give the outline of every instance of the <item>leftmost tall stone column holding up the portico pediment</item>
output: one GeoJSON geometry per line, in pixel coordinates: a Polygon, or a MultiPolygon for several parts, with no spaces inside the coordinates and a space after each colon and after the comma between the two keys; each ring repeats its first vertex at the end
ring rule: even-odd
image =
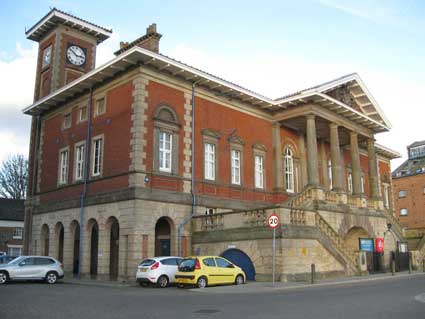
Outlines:
{"type": "Polygon", "coordinates": [[[308,114],[307,119],[307,174],[308,185],[319,186],[319,165],[317,161],[316,122],[314,114],[308,114]]]}

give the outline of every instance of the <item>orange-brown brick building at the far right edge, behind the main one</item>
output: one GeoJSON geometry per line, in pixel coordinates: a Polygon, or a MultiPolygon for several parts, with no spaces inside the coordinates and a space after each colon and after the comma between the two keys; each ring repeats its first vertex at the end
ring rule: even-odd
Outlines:
{"type": "MultiPolygon", "coordinates": [[[[392,173],[395,212],[410,250],[425,254],[425,141],[407,146],[408,159],[392,173]]],[[[419,258],[419,257],[418,257],[419,258]]]]}

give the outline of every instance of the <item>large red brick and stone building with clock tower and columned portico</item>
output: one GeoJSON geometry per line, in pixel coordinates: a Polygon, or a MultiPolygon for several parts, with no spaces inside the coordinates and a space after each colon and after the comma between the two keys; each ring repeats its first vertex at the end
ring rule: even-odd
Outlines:
{"type": "MultiPolygon", "coordinates": [[[[333,258],[317,261],[326,275],[355,271],[359,236],[385,237],[388,219],[397,223],[398,154],[374,142],[390,124],[357,74],[273,100],[160,54],[154,24],[95,69],[110,34],[57,9],[27,31],[40,43],[24,110],[33,253],[116,278],[147,256],[237,246],[266,278],[262,218],[273,207],[284,227],[301,227],[305,265],[333,258]]],[[[305,273],[283,257],[297,243],[282,239],[282,280],[305,273]]]]}

